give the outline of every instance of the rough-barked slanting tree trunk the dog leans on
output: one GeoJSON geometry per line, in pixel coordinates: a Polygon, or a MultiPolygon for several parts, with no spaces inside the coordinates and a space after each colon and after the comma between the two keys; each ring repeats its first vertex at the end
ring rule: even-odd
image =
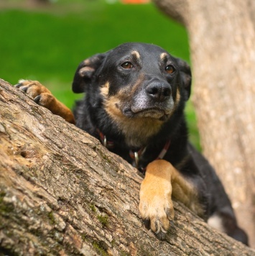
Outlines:
{"type": "Polygon", "coordinates": [[[121,157],[0,80],[0,255],[255,255],[175,202],[166,241],[121,157]]]}

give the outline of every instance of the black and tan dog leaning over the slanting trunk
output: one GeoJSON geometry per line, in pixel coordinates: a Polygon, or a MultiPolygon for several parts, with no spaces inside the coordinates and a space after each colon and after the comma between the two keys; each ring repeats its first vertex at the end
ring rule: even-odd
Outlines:
{"type": "Polygon", "coordinates": [[[231,203],[207,160],[187,140],[185,101],[190,67],[154,45],[126,43],[83,60],[73,91],[85,92],[72,112],[37,81],[19,81],[37,104],[97,137],[145,171],[139,211],[163,239],[174,219],[171,197],[247,244],[231,203]]]}

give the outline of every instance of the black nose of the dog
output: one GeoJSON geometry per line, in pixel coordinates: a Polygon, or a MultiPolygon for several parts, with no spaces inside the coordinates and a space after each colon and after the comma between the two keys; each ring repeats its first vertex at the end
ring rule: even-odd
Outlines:
{"type": "Polygon", "coordinates": [[[168,83],[150,83],[146,88],[149,96],[156,101],[164,101],[171,95],[171,86],[168,83]]]}

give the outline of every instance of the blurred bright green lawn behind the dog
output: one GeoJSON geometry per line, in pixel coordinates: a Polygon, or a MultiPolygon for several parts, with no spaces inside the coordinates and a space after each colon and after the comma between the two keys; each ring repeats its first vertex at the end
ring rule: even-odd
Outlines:
{"type": "MultiPolygon", "coordinates": [[[[0,78],[38,80],[70,108],[82,97],[71,91],[81,60],[123,42],[159,45],[189,60],[187,32],[154,4],[113,0],[0,0],[0,78]],[[34,1],[35,2],[35,1],[34,1]]],[[[190,139],[200,149],[193,106],[187,104],[190,139]]]]}

